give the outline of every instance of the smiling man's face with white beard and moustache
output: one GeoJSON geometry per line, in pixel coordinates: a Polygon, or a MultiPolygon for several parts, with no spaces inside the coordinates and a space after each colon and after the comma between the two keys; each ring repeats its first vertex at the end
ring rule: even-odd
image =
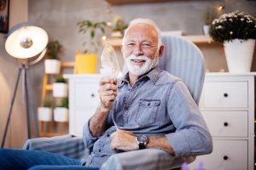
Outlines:
{"type": "Polygon", "coordinates": [[[158,34],[153,26],[138,24],[125,35],[123,54],[128,70],[141,76],[158,63],[158,34]]]}

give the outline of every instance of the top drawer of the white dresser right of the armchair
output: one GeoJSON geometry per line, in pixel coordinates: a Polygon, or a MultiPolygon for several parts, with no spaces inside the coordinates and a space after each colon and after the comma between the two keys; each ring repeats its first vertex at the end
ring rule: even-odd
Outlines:
{"type": "Polygon", "coordinates": [[[203,109],[246,109],[248,82],[205,82],[201,107],[203,109]]]}

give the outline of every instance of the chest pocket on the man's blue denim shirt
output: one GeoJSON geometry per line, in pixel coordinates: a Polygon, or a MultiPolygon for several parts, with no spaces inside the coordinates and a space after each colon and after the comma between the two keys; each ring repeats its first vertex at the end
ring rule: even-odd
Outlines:
{"type": "Polygon", "coordinates": [[[156,122],[160,100],[140,99],[135,121],[141,126],[148,126],[156,122]]]}

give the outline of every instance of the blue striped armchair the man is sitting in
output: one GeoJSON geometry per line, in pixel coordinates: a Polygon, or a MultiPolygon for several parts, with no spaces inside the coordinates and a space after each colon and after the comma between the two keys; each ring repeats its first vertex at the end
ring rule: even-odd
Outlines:
{"type": "MultiPolygon", "coordinates": [[[[180,77],[198,104],[205,77],[205,63],[200,49],[183,37],[162,36],[162,42],[165,45],[165,52],[160,59],[160,68],[180,77]]],[[[89,150],[84,148],[83,140],[73,135],[28,139],[23,149],[47,150],[78,159],[89,154],[89,150]]],[[[194,160],[195,156],[177,158],[164,150],[134,150],[110,156],[101,169],[125,170],[143,167],[165,170],[181,167],[183,162],[190,163],[194,160]],[[137,160],[138,156],[141,157],[140,160],[137,160]]]]}

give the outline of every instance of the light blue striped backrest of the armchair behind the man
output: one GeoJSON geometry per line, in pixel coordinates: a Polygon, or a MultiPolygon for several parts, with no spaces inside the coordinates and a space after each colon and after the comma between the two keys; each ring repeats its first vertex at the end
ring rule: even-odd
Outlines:
{"type": "Polygon", "coordinates": [[[159,67],[179,77],[198,105],[205,78],[205,60],[201,50],[184,37],[164,35],[165,46],[159,67]]]}

